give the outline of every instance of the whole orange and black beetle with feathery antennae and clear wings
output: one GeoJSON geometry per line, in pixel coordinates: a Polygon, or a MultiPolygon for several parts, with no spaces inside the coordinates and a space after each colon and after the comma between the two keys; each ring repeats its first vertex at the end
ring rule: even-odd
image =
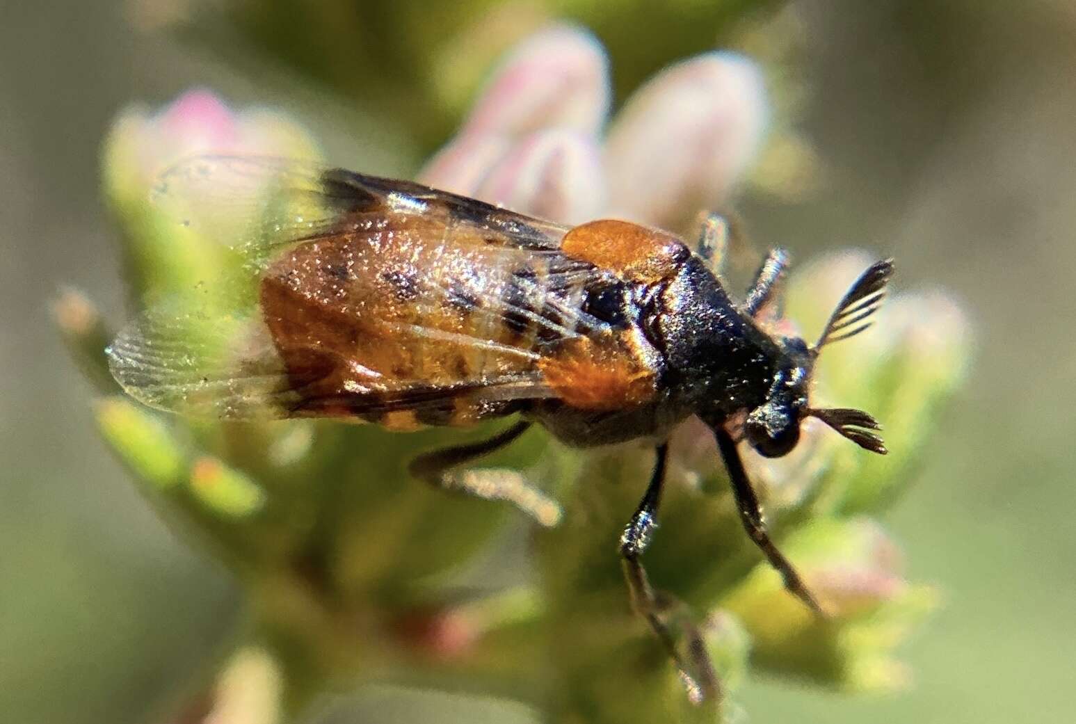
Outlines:
{"type": "Polygon", "coordinates": [[[107,353],[134,398],[187,414],[338,417],[399,431],[515,415],[491,439],[423,453],[410,470],[510,500],[543,523],[555,506],[519,479],[458,469],[536,423],[580,448],[651,441],[653,473],[620,553],[636,608],[705,692],[716,688],[709,667],[677,653],[641,563],[665,440],[694,415],[712,431],[751,540],[822,613],[767,533],[738,442],[779,457],[817,417],[886,453],[874,417],[812,407],[810,381],[824,346],[870,325],[892,260],[866,269],[808,344],[773,324],[785,252],[769,253],[742,300],[728,295],[718,216],[692,249],[624,221],[569,228],[412,182],[242,156],[181,161],[153,198],[184,227],[224,236],[237,261],[227,284],[255,292],[238,311],[195,296],[127,326],[107,353]]]}

